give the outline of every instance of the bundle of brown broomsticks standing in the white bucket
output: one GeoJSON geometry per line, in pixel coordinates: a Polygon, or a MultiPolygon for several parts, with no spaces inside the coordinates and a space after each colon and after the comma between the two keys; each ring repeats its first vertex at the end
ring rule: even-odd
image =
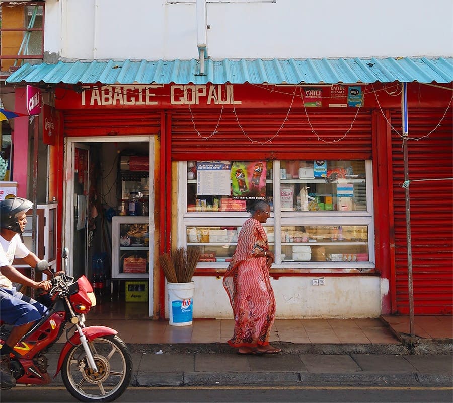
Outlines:
{"type": "Polygon", "coordinates": [[[159,263],[169,283],[190,283],[195,267],[200,259],[199,248],[177,248],[171,255],[164,253],[159,256],[159,263]]]}

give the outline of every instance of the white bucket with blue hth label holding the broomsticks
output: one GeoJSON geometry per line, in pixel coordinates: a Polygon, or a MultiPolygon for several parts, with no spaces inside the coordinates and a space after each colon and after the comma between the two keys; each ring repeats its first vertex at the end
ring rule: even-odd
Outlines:
{"type": "Polygon", "coordinates": [[[168,291],[168,324],[172,326],[189,326],[193,317],[194,282],[167,283],[168,291]]]}

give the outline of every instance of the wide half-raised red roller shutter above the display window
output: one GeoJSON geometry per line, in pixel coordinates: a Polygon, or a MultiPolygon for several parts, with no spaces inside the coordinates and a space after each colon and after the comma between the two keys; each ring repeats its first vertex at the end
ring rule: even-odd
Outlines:
{"type": "Polygon", "coordinates": [[[369,111],[314,109],[176,111],[172,159],[371,159],[369,111]]]}

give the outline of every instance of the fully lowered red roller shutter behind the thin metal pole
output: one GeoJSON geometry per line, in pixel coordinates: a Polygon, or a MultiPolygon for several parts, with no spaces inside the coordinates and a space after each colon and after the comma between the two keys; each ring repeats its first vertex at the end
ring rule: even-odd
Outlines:
{"type": "MultiPolygon", "coordinates": [[[[452,114],[409,110],[408,142],[415,314],[451,314],[453,301],[452,114]],[[428,137],[421,138],[427,135],[428,137]],[[428,181],[415,182],[418,179],[428,181]]],[[[401,131],[401,111],[392,113],[401,131]]],[[[392,133],[395,265],[398,313],[409,313],[404,165],[401,138],[392,133]]]]}

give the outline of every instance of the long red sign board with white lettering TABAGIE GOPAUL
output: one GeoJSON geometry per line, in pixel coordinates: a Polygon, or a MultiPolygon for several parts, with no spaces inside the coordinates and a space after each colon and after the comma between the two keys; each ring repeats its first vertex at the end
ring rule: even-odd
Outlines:
{"type": "MultiPolygon", "coordinates": [[[[189,109],[356,107],[363,102],[363,87],[332,85],[149,84],[84,87],[81,93],[57,88],[58,110],[65,109],[189,109]]],[[[362,103],[363,106],[363,103],[362,103]]]]}

